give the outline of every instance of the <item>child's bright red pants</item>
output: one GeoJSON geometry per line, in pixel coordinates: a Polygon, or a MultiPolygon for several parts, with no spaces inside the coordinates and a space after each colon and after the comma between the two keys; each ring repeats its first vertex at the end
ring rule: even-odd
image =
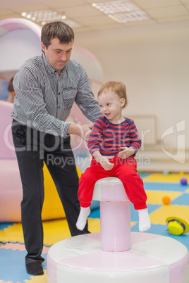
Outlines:
{"type": "Polygon", "coordinates": [[[104,170],[102,166],[92,158],[90,168],[87,168],[80,177],[78,199],[81,207],[88,207],[92,201],[94,184],[97,180],[105,177],[117,177],[123,182],[126,194],[135,209],[147,208],[147,195],[140,175],[137,174],[137,162],[133,156],[121,159],[118,156],[109,159],[114,163],[111,170],[104,170]]]}

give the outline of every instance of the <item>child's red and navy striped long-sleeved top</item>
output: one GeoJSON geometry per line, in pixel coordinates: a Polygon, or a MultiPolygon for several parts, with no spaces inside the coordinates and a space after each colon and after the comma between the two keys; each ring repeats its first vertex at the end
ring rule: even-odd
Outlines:
{"type": "Polygon", "coordinates": [[[141,146],[138,130],[133,120],[126,118],[125,121],[115,125],[103,116],[94,122],[88,141],[91,154],[99,151],[102,156],[116,156],[121,151],[121,147],[126,146],[133,146],[135,153],[141,146]]]}

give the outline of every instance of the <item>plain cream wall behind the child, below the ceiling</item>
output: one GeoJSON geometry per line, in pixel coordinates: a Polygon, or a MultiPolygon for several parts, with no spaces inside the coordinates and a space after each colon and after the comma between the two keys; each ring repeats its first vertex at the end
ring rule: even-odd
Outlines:
{"type": "Polygon", "coordinates": [[[96,56],[104,69],[104,81],[126,84],[129,104],[124,112],[157,117],[157,140],[164,137],[173,148],[176,124],[183,122],[185,146],[189,148],[189,22],[124,27],[92,34],[76,34],[75,44],[96,56]]]}

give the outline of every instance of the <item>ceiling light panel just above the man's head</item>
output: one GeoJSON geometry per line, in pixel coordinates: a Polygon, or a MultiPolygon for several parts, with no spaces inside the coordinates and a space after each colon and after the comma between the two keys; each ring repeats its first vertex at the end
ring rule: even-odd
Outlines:
{"type": "Polygon", "coordinates": [[[45,23],[53,22],[54,20],[62,20],[64,23],[67,23],[73,28],[81,26],[78,23],[75,23],[73,20],[68,20],[66,15],[52,10],[23,12],[21,15],[39,25],[44,25],[45,23]]]}

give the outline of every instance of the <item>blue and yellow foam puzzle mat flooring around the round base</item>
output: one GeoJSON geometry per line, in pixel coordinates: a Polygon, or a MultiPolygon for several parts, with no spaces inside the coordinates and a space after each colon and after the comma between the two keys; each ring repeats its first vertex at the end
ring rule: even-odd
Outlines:
{"type": "MultiPolygon", "coordinates": [[[[169,233],[166,218],[182,218],[189,224],[189,184],[181,184],[181,178],[189,183],[189,174],[144,174],[140,173],[147,193],[147,206],[150,213],[152,234],[171,237],[189,249],[189,232],[179,236],[169,233]],[[171,203],[165,205],[164,196],[171,203]]],[[[95,207],[95,206],[94,206],[95,207]]],[[[96,206],[97,207],[97,206],[96,206]]],[[[130,204],[131,230],[138,232],[138,212],[130,204]]],[[[95,208],[88,218],[90,232],[100,232],[99,208],[95,208]]],[[[42,256],[44,275],[31,276],[25,270],[25,246],[20,223],[0,223],[0,283],[47,283],[46,256],[49,247],[57,241],[71,237],[65,219],[44,221],[44,249],[42,256]]],[[[160,247],[161,248],[161,247],[160,247]]],[[[189,263],[188,263],[189,283],[189,263]]]]}

